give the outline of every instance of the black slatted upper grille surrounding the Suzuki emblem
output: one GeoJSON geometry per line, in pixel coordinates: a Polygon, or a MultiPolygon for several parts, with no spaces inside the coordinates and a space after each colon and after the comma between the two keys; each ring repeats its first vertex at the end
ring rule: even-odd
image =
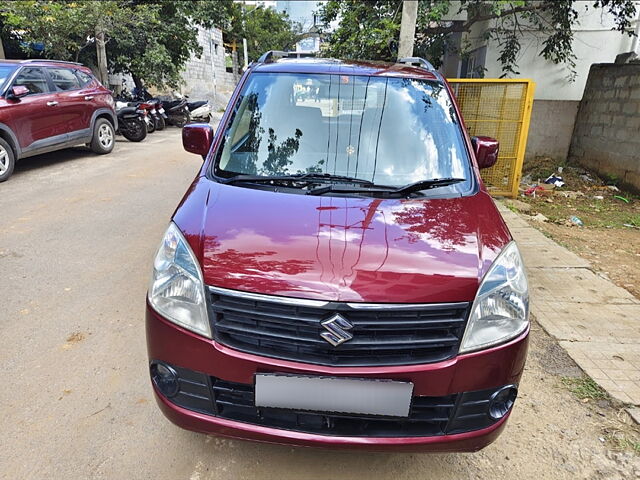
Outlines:
{"type": "Polygon", "coordinates": [[[433,363],[455,356],[469,303],[316,302],[210,288],[214,338],[256,355],[329,366],[433,363]],[[321,322],[346,318],[353,338],[325,341],[321,322]]]}

